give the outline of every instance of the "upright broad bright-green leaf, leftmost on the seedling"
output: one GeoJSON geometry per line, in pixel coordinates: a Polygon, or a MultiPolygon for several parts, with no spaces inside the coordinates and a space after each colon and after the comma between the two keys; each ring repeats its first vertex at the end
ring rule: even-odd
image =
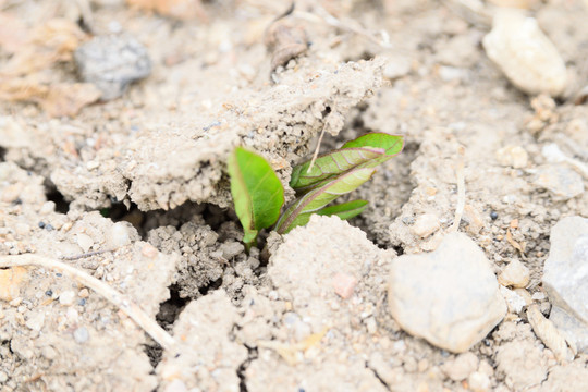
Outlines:
{"type": "Polygon", "coordinates": [[[247,249],[255,244],[259,230],[271,226],[284,204],[284,188],[264,157],[237,147],[229,157],[231,194],[235,212],[245,232],[247,249]]]}

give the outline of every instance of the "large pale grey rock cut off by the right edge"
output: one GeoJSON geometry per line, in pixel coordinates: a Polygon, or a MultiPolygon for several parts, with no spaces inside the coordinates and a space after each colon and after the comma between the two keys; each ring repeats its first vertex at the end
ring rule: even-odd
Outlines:
{"type": "Polygon", "coordinates": [[[588,351],[588,219],[568,217],[551,229],[543,287],[553,304],[551,321],[588,351]]]}

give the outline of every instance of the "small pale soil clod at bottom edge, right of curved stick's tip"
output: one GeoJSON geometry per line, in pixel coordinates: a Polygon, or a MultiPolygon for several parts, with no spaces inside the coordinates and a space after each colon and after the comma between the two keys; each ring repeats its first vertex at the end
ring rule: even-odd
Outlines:
{"type": "Polygon", "coordinates": [[[157,367],[161,390],[238,391],[237,369],[247,348],[231,339],[237,318],[222,290],[191,302],[173,328],[183,342],[180,351],[164,352],[157,367]]]}

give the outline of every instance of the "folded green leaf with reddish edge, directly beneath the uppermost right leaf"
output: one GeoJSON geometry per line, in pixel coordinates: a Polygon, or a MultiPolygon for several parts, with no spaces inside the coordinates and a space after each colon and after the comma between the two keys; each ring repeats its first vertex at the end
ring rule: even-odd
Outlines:
{"type": "Polygon", "coordinates": [[[284,234],[295,226],[306,224],[310,219],[310,215],[318,212],[339,196],[356,189],[368,181],[375,171],[373,168],[359,168],[343,173],[331,181],[323,182],[319,187],[296,199],[282,213],[275,224],[275,231],[284,234]]]}

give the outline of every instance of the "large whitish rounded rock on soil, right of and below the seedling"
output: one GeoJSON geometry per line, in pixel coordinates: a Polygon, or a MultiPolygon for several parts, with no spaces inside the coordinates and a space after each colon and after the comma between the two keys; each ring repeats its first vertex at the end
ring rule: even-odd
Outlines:
{"type": "Polygon", "coordinates": [[[454,353],[481,341],[506,304],[482,250],[465,234],[448,234],[437,250],[393,260],[390,311],[408,333],[454,353]]]}

